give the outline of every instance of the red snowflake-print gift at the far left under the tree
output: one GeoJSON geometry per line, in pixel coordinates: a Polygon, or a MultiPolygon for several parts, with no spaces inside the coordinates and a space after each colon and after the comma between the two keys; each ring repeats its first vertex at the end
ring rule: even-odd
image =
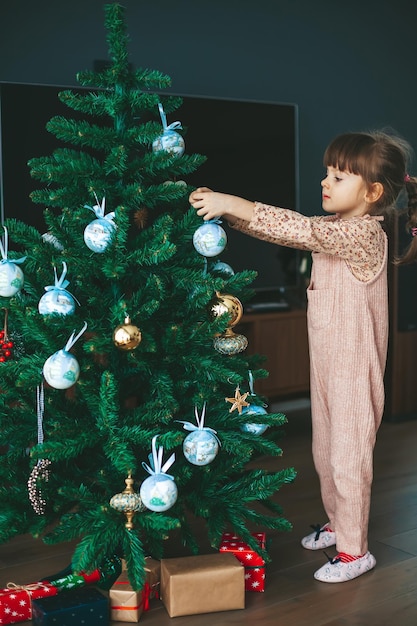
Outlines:
{"type": "Polygon", "coordinates": [[[30,585],[9,583],[0,589],[0,624],[15,624],[32,619],[32,600],[55,596],[58,588],[47,582],[30,585]]]}

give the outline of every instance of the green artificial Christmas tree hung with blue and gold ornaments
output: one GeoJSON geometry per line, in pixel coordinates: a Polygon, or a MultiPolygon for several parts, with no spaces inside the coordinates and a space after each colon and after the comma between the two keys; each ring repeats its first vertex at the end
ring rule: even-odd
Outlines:
{"type": "Polygon", "coordinates": [[[254,272],[211,271],[193,246],[202,221],[186,179],[205,157],[167,124],[181,105],[161,94],[169,77],[132,69],[123,8],[106,5],[105,23],[108,67],[60,93],[82,119],[51,119],[62,147],[29,162],[45,232],[3,229],[0,305],[20,344],[0,363],[0,540],[79,538],[74,571],[116,554],[140,589],[144,557],[163,556],[171,531],[198,552],[190,516],[214,548],[225,530],[254,549],[249,526],[288,530],[273,496],[295,472],[248,467],[281,455],[285,422],[256,411],[266,372],[232,330],[254,272]],[[214,436],[209,462],[184,456],[187,429],[200,448],[214,436]]]}

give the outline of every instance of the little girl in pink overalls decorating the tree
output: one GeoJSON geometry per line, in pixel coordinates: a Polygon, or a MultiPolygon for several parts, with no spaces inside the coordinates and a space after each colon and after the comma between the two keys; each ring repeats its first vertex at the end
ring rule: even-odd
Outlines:
{"type": "MultiPolygon", "coordinates": [[[[347,133],[324,154],[322,206],[331,215],[251,202],[200,187],[190,203],[205,220],[223,215],[236,229],[312,252],[307,289],[313,458],[328,521],[304,548],[336,545],[314,577],[351,580],[375,567],[368,551],[373,450],[384,408],[388,342],[388,242],[381,213],[404,186],[417,234],[417,179],[407,174],[410,146],[384,132],[347,133]]],[[[417,258],[415,237],[399,262],[417,258]]]]}

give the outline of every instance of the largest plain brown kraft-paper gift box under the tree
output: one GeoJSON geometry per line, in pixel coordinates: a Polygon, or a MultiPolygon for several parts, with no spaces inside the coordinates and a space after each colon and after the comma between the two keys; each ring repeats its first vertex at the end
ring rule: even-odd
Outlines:
{"type": "Polygon", "coordinates": [[[245,569],[233,554],[161,561],[161,600],[170,617],[245,608],[245,569]]]}

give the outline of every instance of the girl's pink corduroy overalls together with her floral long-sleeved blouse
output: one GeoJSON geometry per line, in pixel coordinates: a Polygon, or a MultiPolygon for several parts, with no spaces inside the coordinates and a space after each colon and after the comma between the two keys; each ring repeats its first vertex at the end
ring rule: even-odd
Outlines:
{"type": "Polygon", "coordinates": [[[307,289],[313,459],[337,550],[357,556],[368,549],[373,450],[384,408],[388,243],[378,220],[308,218],[256,203],[250,223],[234,224],[313,251],[307,289]]]}

